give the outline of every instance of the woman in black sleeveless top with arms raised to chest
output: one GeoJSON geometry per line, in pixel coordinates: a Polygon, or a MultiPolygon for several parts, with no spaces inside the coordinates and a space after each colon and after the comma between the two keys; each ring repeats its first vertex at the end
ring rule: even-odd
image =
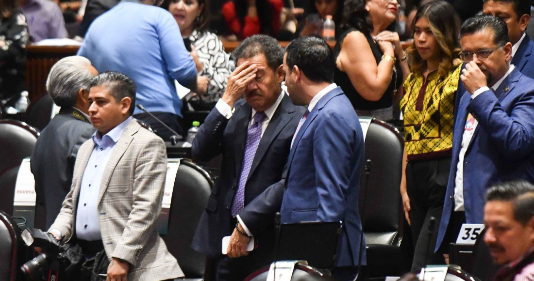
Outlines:
{"type": "Polygon", "coordinates": [[[397,0],[345,0],[334,81],[359,116],[394,118],[394,97],[410,73],[398,34],[386,30],[398,7],[397,0]]]}

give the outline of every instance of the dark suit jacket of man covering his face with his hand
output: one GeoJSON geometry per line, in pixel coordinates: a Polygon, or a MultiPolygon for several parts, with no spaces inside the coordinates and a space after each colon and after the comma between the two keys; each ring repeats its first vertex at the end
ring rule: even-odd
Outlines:
{"type": "MultiPolygon", "coordinates": [[[[252,113],[252,108],[245,100],[236,102],[234,108],[230,119],[226,119],[216,108],[213,109],[193,141],[192,154],[195,160],[207,161],[223,154],[221,176],[211,192],[192,243],[195,250],[211,257],[222,255],[222,238],[233,231],[232,200],[238,187],[252,113]]],[[[294,106],[287,95],[280,102],[258,144],[245,186],[245,206],[254,209],[250,202],[282,178],[290,143],[304,111],[303,107],[294,106]]],[[[273,226],[274,214],[270,215],[273,226]]],[[[251,230],[258,244],[254,251],[272,252],[272,226],[260,232],[251,230]]],[[[272,255],[268,256],[272,259],[272,255]]]]}

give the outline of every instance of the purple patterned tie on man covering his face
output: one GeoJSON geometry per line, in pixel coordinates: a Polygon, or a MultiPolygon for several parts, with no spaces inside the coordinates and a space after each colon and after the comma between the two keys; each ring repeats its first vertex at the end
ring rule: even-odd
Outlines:
{"type": "Polygon", "coordinates": [[[235,191],[232,216],[235,218],[239,211],[243,210],[245,206],[245,183],[247,183],[248,173],[256,155],[256,149],[260,144],[262,138],[262,121],[267,117],[263,111],[258,111],[254,115],[254,124],[248,128],[247,132],[247,146],[245,147],[245,156],[243,156],[243,165],[241,167],[241,175],[239,176],[239,186],[235,191]]]}

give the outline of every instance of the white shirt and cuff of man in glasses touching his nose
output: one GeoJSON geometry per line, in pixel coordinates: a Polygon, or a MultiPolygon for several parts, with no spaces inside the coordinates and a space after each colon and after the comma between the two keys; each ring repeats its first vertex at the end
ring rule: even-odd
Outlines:
{"type": "MultiPolygon", "coordinates": [[[[514,70],[514,65],[510,65],[510,68],[508,71],[506,71],[506,74],[502,76],[502,78],[495,83],[491,89],[493,91],[496,91],[497,88],[500,86],[502,81],[508,75],[514,70]]],[[[475,99],[478,97],[478,95],[484,93],[485,91],[490,90],[488,86],[481,87],[473,93],[471,96],[471,99],[475,99]]],[[[476,121],[475,117],[473,116],[467,116],[466,125],[464,127],[464,134],[462,135],[462,143],[460,148],[460,154],[458,156],[458,165],[457,165],[457,171],[456,171],[456,177],[454,178],[454,211],[465,211],[464,206],[464,157],[466,155],[467,148],[469,147],[469,143],[471,142],[471,139],[473,138],[473,134],[475,133],[476,127],[478,126],[478,121],[476,121]]]]}

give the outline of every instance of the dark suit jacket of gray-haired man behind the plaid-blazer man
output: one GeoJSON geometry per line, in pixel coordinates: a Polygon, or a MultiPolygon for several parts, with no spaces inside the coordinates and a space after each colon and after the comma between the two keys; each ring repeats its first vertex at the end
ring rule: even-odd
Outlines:
{"type": "Polygon", "coordinates": [[[30,166],[35,178],[37,204],[46,210],[46,229],[56,220],[70,191],[78,149],[94,132],[89,122],[57,114],[35,143],[30,166]]]}

